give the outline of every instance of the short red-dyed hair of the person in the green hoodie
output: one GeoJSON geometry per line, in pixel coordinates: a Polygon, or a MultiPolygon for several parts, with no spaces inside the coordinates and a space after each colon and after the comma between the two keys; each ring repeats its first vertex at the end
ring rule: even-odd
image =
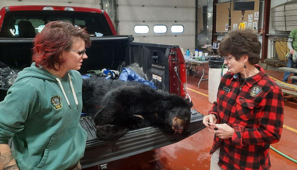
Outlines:
{"type": "Polygon", "coordinates": [[[69,49],[77,38],[84,40],[86,48],[91,46],[90,36],[85,29],[75,27],[69,22],[47,23],[33,41],[32,61],[35,62],[36,67],[42,65],[58,71],[55,64],[60,68],[60,65],[65,62],[60,59],[60,55],[64,50],[69,49]]]}

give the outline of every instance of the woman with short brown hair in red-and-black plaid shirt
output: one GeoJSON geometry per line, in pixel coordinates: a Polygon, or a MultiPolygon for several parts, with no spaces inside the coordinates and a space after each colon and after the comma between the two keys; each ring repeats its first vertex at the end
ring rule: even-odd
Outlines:
{"type": "Polygon", "coordinates": [[[203,118],[215,134],[210,169],[269,169],[269,146],[282,134],[282,90],[257,65],[261,43],[251,29],[228,32],[218,51],[230,72],[222,77],[217,102],[203,118]]]}

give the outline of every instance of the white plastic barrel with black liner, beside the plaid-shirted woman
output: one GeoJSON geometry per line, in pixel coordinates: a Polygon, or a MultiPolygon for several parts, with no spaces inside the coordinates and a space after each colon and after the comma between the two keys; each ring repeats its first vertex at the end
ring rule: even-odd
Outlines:
{"type": "MultiPolygon", "coordinates": [[[[223,69],[223,75],[227,73],[228,68],[223,69]]],[[[208,101],[213,103],[217,101],[217,89],[221,81],[222,68],[209,68],[208,71],[208,101]]]]}

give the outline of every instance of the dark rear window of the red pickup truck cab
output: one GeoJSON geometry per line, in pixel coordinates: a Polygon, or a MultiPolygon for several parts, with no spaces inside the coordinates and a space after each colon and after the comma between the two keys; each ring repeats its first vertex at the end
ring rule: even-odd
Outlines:
{"type": "Polygon", "coordinates": [[[91,37],[112,35],[110,26],[101,13],[78,11],[7,11],[0,37],[34,38],[46,23],[69,21],[76,27],[86,27],[91,37]]]}

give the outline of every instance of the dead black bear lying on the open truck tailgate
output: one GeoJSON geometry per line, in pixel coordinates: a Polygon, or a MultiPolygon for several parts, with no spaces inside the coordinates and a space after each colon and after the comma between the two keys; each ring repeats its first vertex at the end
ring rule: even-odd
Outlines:
{"type": "Polygon", "coordinates": [[[157,126],[166,134],[184,133],[193,106],[189,99],[138,82],[91,78],[83,81],[83,112],[93,115],[101,140],[117,139],[130,130],[157,126]]]}

